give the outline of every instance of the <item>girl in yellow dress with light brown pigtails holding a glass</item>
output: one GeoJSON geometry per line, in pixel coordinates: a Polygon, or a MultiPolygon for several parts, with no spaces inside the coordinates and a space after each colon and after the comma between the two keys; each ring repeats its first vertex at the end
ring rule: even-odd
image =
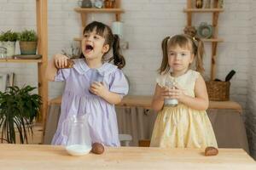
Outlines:
{"type": "Polygon", "coordinates": [[[160,76],[156,79],[152,101],[158,116],[150,146],[218,147],[206,112],[209,100],[206,83],[201,77],[204,71],[203,42],[185,34],[166,37],[162,42],[162,51],[160,76]],[[167,87],[167,82],[174,82],[175,88],[167,87]]]}

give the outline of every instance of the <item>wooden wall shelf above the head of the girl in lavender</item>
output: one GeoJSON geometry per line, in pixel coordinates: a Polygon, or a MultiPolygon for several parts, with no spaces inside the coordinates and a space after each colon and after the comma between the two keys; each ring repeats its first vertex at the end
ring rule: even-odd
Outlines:
{"type": "MultiPolygon", "coordinates": [[[[115,20],[120,21],[120,14],[124,13],[125,11],[120,8],[120,0],[115,0],[114,8],[74,8],[74,10],[81,14],[82,20],[82,30],[87,25],[87,14],[90,13],[107,13],[107,14],[115,14],[115,20]]],[[[75,37],[74,41],[81,41],[81,37],[75,37]]]]}

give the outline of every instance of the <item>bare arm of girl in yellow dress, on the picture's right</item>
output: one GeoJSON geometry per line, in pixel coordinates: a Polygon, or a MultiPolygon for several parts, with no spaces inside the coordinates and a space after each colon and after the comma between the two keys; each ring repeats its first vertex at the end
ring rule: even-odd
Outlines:
{"type": "Polygon", "coordinates": [[[206,111],[209,106],[206,82],[201,75],[195,81],[195,98],[183,94],[180,89],[174,89],[173,91],[176,96],[172,97],[177,98],[179,102],[188,105],[192,109],[206,111]]]}

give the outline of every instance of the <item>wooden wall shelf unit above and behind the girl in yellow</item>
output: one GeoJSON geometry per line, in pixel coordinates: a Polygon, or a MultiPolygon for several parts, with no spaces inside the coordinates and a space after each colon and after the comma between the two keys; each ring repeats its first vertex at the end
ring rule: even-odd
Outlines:
{"type": "Polygon", "coordinates": [[[187,26],[192,26],[192,16],[194,13],[212,13],[212,38],[202,39],[204,42],[212,43],[212,59],[211,59],[211,79],[216,78],[216,59],[218,42],[223,42],[222,38],[218,38],[218,14],[224,12],[223,8],[218,8],[218,0],[212,0],[212,8],[195,8],[193,0],[187,0],[187,8],[183,11],[187,13],[187,26]]]}

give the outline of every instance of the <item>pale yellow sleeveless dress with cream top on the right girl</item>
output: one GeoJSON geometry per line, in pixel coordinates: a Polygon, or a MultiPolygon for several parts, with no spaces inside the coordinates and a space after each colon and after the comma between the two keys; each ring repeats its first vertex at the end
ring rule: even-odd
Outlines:
{"type": "MultiPolygon", "coordinates": [[[[189,70],[176,77],[177,85],[185,89],[185,94],[195,97],[195,80],[200,75],[189,70]]],[[[170,73],[160,75],[156,82],[165,86],[167,79],[173,79],[170,73]]],[[[164,106],[154,122],[150,146],[167,148],[206,148],[218,147],[212,130],[212,124],[206,111],[198,111],[179,103],[176,107],[164,106]]]]}

